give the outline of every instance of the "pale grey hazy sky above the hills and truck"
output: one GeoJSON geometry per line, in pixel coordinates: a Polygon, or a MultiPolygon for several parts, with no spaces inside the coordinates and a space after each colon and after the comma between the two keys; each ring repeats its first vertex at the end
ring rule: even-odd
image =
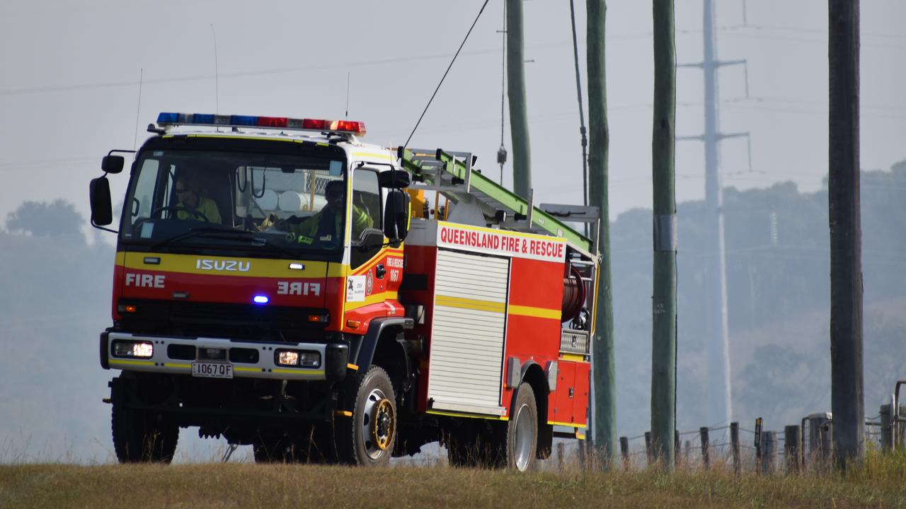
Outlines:
{"type": "MultiPolygon", "coordinates": [[[[87,217],[88,181],[100,174],[101,157],[147,138],[145,127],[159,111],[342,118],[347,73],[349,118],[366,122],[366,141],[400,145],[481,4],[7,2],[0,6],[0,224],[24,199],[63,197],[87,217]]],[[[651,206],[651,2],[607,4],[615,218],[651,206]]],[[[701,58],[701,4],[676,2],[680,63],[701,58]]],[[[794,180],[803,190],[820,187],[827,173],[827,3],[749,1],[746,25],[743,0],[716,4],[718,56],[748,60],[748,98],[742,67],[720,73],[721,127],[750,132],[752,143],[751,172],[745,140],[724,143],[725,184],[794,180]]],[[[584,3],[576,8],[584,81],[584,3]]],[[[503,0],[492,0],[410,144],[473,151],[495,178],[502,19],[503,0]]],[[[862,2],[866,169],[906,158],[902,19],[901,0],[862,2]]],[[[535,195],[578,203],[581,153],[566,0],[525,2],[525,58],[532,61],[525,69],[535,195]]],[[[677,78],[677,134],[698,135],[701,72],[679,69],[677,78]]],[[[507,166],[507,184],[510,171],[507,166]]],[[[700,142],[678,143],[676,171],[679,201],[703,197],[700,142]]],[[[114,196],[125,183],[125,176],[113,178],[114,196]]]]}

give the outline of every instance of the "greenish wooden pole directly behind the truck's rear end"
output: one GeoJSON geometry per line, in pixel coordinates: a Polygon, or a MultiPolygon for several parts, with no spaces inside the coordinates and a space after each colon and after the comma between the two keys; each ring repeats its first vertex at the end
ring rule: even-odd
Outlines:
{"type": "Polygon", "coordinates": [[[596,232],[602,254],[598,270],[598,311],[594,318],[594,443],[609,468],[617,452],[616,382],[613,360],[613,303],[611,293],[611,228],[607,197],[607,89],[604,81],[604,20],[607,3],[588,0],[588,204],[597,206],[601,220],[596,232]]]}

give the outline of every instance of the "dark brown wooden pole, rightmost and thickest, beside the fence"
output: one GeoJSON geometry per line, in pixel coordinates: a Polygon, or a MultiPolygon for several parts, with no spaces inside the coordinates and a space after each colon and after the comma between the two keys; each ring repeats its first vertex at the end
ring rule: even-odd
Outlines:
{"type": "Polygon", "coordinates": [[[828,0],[827,197],[831,229],[831,412],[845,470],[865,454],[862,219],[859,204],[859,0],[828,0]]]}

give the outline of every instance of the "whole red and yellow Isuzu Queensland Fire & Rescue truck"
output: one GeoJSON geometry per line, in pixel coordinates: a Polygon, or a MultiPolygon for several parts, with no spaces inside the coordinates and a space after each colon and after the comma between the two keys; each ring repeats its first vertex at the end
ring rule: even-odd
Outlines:
{"type": "Polygon", "coordinates": [[[100,354],[120,462],[169,462],[180,427],[260,462],[441,441],[452,465],[518,470],[584,437],[599,255],[562,219],[593,211],[533,206],[466,153],[362,143],[358,121],[149,131],[118,230],[108,174],[130,151],[91,186],[118,235],[100,354]]]}

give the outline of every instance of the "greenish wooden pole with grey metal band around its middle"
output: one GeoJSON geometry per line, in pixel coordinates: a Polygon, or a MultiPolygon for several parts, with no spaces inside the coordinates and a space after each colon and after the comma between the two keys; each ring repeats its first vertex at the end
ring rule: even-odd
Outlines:
{"type": "Polygon", "coordinates": [[[673,0],[653,0],[654,187],[653,293],[651,296],[651,433],[665,470],[676,464],[677,223],[673,159],[676,144],[676,47],[673,0]]]}

